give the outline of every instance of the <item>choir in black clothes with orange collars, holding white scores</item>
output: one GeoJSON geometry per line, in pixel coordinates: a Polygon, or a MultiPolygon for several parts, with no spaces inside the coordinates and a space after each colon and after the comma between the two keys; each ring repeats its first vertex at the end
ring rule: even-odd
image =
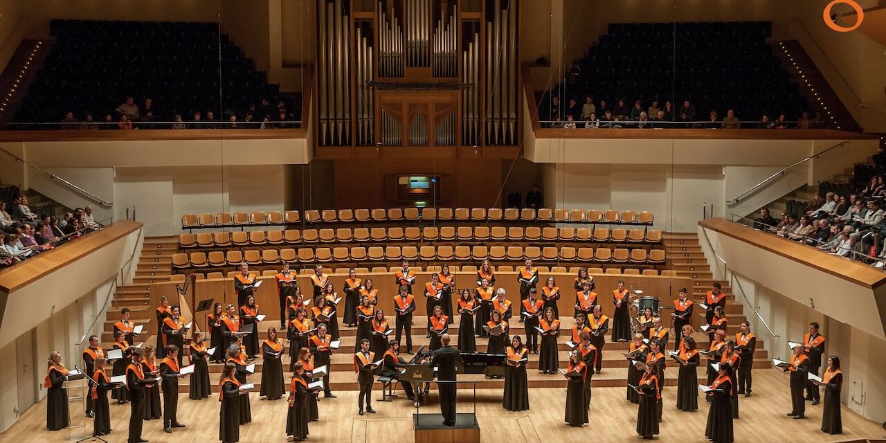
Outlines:
{"type": "MultiPolygon", "coordinates": [[[[248,273],[245,265],[235,281],[238,299],[241,300],[239,315],[234,305],[222,310],[221,303],[215,303],[212,312],[206,316],[209,344],[206,344],[202,332],[193,330],[185,346],[184,336],[188,328],[180,316],[181,309],[170,306],[167,298],[163,297],[156,308],[159,345],[162,347],[144,346],[142,349],[141,345],[133,346],[130,340],[137,336],[136,327],[128,320],[128,309],[122,309],[121,320],[114,325],[112,345],[112,350],[120,354],[113,353],[109,357],[99,346],[96,336],[89,337],[89,346],[82,354],[85,375],[89,377],[85,412],[86,416],[94,419],[93,435],[103,436],[112,431],[108,392],[113,392],[113,398],[118,403],[131,405],[130,443],[146,441],[141,438],[144,420],[162,416],[164,431],[183,428],[184,424],[176,416],[180,380],[190,374],[189,399],[206,399],[211,395],[208,363],[223,361],[219,380],[219,439],[222,442],[237,442],[239,425],[252,420],[249,392],[253,384],[249,380],[254,372],[254,364],[249,364],[249,361],[260,353],[262,370],[259,396],[266,400],[278,400],[288,393],[286,434],[298,441],[307,439],[308,423],[319,419],[318,392],[322,390],[324,397],[335,398],[330,390],[329,373],[331,355],[338,349],[337,306],[340,301],[321,267],[318,266],[310,278],[315,306],[308,310],[308,302],[302,299],[295,274],[288,265],[275,276],[280,297],[281,326],[285,329],[290,346],[291,381],[288,385],[284,381],[283,354],[287,354],[284,339],[278,336],[276,328],[270,327],[266,339],[259,342],[258,327],[263,315],[259,315],[259,307],[252,293],[255,278],[248,273]],[[188,366],[183,366],[185,356],[188,366]],[[159,362],[158,358],[161,359],[159,362]],[[112,371],[111,377],[106,372],[108,367],[112,371]],[[120,380],[125,382],[112,381],[120,376],[120,380]]],[[[362,280],[351,270],[343,288],[346,299],[343,322],[348,326],[357,326],[354,372],[360,385],[358,414],[361,416],[365,412],[375,413],[371,397],[372,386],[378,375],[390,377],[392,383],[399,381],[407,398],[416,399],[414,386],[398,379],[406,366],[406,361],[400,357],[400,338],[404,331],[405,351],[412,354],[410,326],[416,302],[411,292],[416,276],[408,269],[408,262],[404,261],[403,268],[397,271],[395,278],[400,289],[393,297],[396,339],[390,339],[394,329],[390,327],[385,313],[377,308],[378,293],[373,289],[371,279],[362,280]]],[[[720,291],[719,284],[713,284],[704,302],[699,304],[705,310],[703,316],[706,321],[701,329],[709,333],[710,346],[707,350],[698,348],[692,336],[694,303],[688,299],[687,290],[681,288],[679,299],[673,300],[671,307],[675,335],[673,351],[669,353],[670,330],[663,327],[659,313],[648,308],[639,318],[632,319],[628,314],[630,291],[623,281],[619,281],[618,287],[612,290],[615,314],[612,318],[603,315],[597,293],[593,291],[593,277],[587,275],[587,269],[579,269],[574,283],[575,325],[565,331],[569,334],[566,344],[571,347],[571,352],[565,369],[561,369],[558,359],[561,320],[557,310],[560,288],[556,286],[554,278],[549,277],[539,297],[535,286],[539,271],[532,267],[532,260],[525,260],[525,267],[519,269],[518,280],[521,284],[518,321],[525,326],[525,344],[520,336],[509,333],[511,302],[503,289],[494,287],[495,276],[488,261],[479,268],[478,287],[473,291],[465,288],[459,292],[455,277],[449,273],[448,267],[444,267],[439,274],[433,274],[431,281],[424,284],[431,351],[445,345],[441,338],[447,336],[449,324],[453,323],[452,293],[460,294],[455,301],[455,313],[461,315],[458,330],[460,352],[476,352],[476,338],[487,337],[486,353],[506,356],[502,408],[509,411],[530,408],[526,369],[530,354],[539,354],[539,372],[560,372],[568,380],[564,421],[570,426],[580,427],[588,423],[591,381],[595,374],[601,373],[603,347],[607,343],[607,332],[611,330],[610,342],[630,340],[629,352],[624,353],[628,360],[626,400],[638,404],[636,431],[641,438],[653,439],[659,433],[667,366],[665,355],[669,354],[678,368],[676,408],[682,412],[695,412],[701,390],[705,400],[710,402],[705,437],[718,443],[733,441],[733,420],[738,418],[739,395],[751,395],[757,338],[750,332],[748,322],[741,323],[741,331],[734,338],[727,338],[725,295],[720,291]],[[697,385],[698,368],[702,361],[705,362],[707,383],[697,385]]],[[[843,374],[839,357],[828,357],[826,370],[819,372],[825,338],[819,333],[818,323],[811,323],[803,343],[795,345],[790,361],[780,364],[780,368],[790,374],[792,408],[788,416],[803,419],[805,401],[811,400],[813,406],[819,404],[820,390],[823,389],[824,412],[820,429],[829,434],[841,433],[843,374]]],[[[46,427],[50,431],[63,429],[69,423],[66,390],[63,388],[67,379],[69,371],[62,363],[61,355],[53,352],[44,384],[48,389],[46,427]]]]}

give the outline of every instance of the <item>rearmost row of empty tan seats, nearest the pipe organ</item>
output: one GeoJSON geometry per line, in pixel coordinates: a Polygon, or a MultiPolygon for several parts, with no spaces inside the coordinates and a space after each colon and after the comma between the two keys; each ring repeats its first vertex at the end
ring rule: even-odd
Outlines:
{"type": "Polygon", "coordinates": [[[282,226],[297,223],[358,223],[358,224],[412,224],[424,222],[508,222],[508,223],[590,223],[629,224],[649,226],[654,215],[649,211],[617,211],[615,209],[500,209],[500,208],[390,208],[390,209],[324,209],[264,213],[183,214],[182,229],[245,228],[255,226],[282,226]]]}

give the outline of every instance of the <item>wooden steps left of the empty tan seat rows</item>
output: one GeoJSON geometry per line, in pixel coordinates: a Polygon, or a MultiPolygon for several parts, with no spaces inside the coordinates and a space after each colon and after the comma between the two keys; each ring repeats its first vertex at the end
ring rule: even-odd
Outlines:
{"type": "MultiPolygon", "coordinates": [[[[132,312],[130,320],[136,324],[148,323],[154,316],[150,306],[151,284],[167,282],[172,274],[172,254],[178,252],[178,237],[145,237],[142,255],[138,259],[136,274],[132,284],[117,288],[111,308],[107,311],[102,343],[113,343],[113,323],[120,320],[120,309],[128,307],[132,312]]],[[[153,343],[155,338],[145,332],[140,340],[153,343]]],[[[110,347],[107,345],[106,347],[110,347]]]]}

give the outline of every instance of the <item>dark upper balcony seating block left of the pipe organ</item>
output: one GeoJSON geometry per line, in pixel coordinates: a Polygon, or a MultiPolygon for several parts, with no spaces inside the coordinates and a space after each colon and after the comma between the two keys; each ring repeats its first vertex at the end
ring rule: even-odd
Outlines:
{"type": "Polygon", "coordinates": [[[209,112],[218,127],[229,124],[231,114],[248,123],[249,113],[258,128],[265,115],[280,120],[281,100],[287,120],[298,117],[300,104],[278,97],[277,86],[267,84],[265,73],[215,23],[52,20],[51,35],[51,53],[15,121],[56,122],[46,128],[58,128],[71,112],[80,124],[63,128],[87,128],[82,123],[89,115],[102,123],[111,115],[116,124],[127,97],[140,110],[135,128],[162,128],[152,121],[174,121],[176,114],[188,128],[214,128],[204,126],[209,112]],[[146,98],[152,99],[152,115],[145,112],[146,98]],[[204,123],[190,124],[194,113],[202,113],[204,123]]]}

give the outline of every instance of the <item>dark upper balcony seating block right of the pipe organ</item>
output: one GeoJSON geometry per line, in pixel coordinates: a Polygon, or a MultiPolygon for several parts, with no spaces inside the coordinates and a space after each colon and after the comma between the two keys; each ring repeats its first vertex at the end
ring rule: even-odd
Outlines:
{"type": "MultiPolygon", "coordinates": [[[[709,121],[711,111],[722,120],[730,109],[742,121],[758,122],[764,114],[771,121],[781,114],[788,121],[801,120],[803,113],[812,116],[814,110],[789,81],[789,73],[766,42],[771,27],[769,22],[610,24],[609,33],[601,35],[568,70],[565,80],[546,93],[559,97],[559,109],[545,97],[541,115],[544,120],[566,121],[568,115],[578,113],[574,120],[584,122],[583,105],[587,97],[593,97],[601,120],[602,100],[613,118],[625,115],[623,121],[637,120],[631,118],[635,100],[641,101],[643,112],[657,101],[667,121],[709,121]],[[570,110],[571,99],[577,100],[577,109],[570,110]],[[624,108],[619,109],[619,99],[624,100],[624,108]],[[695,109],[691,119],[681,116],[684,99],[695,109]],[[672,102],[672,111],[666,110],[667,101],[672,102]]],[[[654,121],[656,115],[648,118],[654,121]]]]}

